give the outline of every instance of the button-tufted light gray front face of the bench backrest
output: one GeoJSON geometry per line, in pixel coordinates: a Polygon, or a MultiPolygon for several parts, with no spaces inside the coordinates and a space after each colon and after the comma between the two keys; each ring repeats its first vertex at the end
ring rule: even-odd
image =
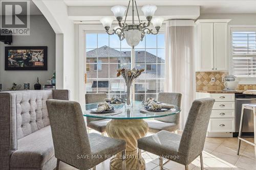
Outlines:
{"type": "Polygon", "coordinates": [[[52,99],[52,90],[12,93],[16,98],[17,139],[50,125],[46,100],[52,99]]]}

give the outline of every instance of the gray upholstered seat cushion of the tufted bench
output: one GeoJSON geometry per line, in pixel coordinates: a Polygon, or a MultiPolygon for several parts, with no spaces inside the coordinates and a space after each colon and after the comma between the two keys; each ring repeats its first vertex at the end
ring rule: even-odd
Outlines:
{"type": "Polygon", "coordinates": [[[11,155],[11,168],[40,168],[44,166],[54,157],[51,127],[41,128],[19,139],[17,148],[17,151],[11,155]]]}

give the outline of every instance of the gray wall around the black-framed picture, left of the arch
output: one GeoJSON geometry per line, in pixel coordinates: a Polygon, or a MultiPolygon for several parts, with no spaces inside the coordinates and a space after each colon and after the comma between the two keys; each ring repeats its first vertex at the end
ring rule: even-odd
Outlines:
{"type": "Polygon", "coordinates": [[[39,77],[41,85],[45,85],[55,70],[55,33],[43,15],[30,16],[30,35],[13,36],[12,45],[0,42],[0,83],[3,90],[11,88],[12,83],[30,83],[34,89],[36,78],[39,77]],[[48,70],[5,71],[5,46],[48,46],[48,70]]]}

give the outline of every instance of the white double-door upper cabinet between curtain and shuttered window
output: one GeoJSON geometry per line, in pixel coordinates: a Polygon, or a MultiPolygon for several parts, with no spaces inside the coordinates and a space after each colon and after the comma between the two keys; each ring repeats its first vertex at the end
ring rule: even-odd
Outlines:
{"type": "Polygon", "coordinates": [[[197,20],[197,71],[228,70],[228,21],[230,20],[197,20]]]}

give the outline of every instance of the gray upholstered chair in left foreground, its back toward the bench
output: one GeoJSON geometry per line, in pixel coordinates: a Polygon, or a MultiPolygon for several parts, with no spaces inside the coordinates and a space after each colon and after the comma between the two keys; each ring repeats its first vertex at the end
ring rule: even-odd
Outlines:
{"type": "Polygon", "coordinates": [[[78,169],[95,169],[95,166],[108,159],[109,155],[122,152],[122,169],[125,169],[126,142],[96,133],[88,135],[82,110],[77,102],[47,100],[52,131],[56,170],[59,161],[78,169]]]}

